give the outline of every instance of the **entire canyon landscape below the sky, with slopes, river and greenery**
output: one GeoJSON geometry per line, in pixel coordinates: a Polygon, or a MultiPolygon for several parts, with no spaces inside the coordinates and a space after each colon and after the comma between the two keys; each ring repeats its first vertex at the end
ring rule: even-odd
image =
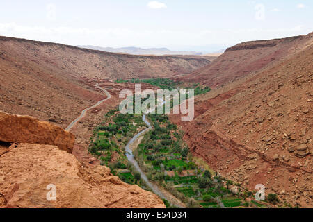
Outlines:
{"type": "Polygon", "coordinates": [[[244,42],[211,59],[0,37],[0,207],[312,207],[312,43],[244,42]],[[194,119],[120,114],[136,84],[194,89],[194,119]]]}

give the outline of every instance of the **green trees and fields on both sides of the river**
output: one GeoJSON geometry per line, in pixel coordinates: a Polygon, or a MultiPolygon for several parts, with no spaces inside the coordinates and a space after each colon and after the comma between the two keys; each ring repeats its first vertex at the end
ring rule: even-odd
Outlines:
{"type": "MultiPolygon", "coordinates": [[[[161,89],[184,87],[195,89],[195,95],[209,92],[209,87],[198,84],[184,85],[170,79],[157,78],[150,80],[118,80],[118,83],[149,83],[161,89]]],[[[143,101],[143,99],[141,99],[143,101]]],[[[184,132],[170,123],[166,114],[148,114],[147,119],[152,123],[152,130],[143,135],[138,148],[133,151],[141,169],[147,178],[164,187],[171,194],[186,203],[187,207],[218,208],[219,199],[225,207],[248,207],[249,203],[243,198],[250,197],[252,192],[239,188],[239,194],[232,194],[229,187],[234,182],[214,174],[214,172],[197,161],[193,161],[188,146],[182,137],[184,132]]],[[[129,184],[136,184],[147,189],[141,174],[134,171],[125,155],[124,148],[131,137],[147,128],[142,121],[142,114],[120,114],[118,110],[110,110],[100,126],[95,128],[90,138],[89,151],[95,155],[101,164],[110,167],[115,176],[129,184]]],[[[239,185],[238,185],[239,186],[239,185]]],[[[240,187],[240,186],[239,186],[240,187]]],[[[275,194],[268,195],[268,201],[278,202],[275,194]]],[[[170,206],[163,200],[166,207],[170,206]]],[[[251,205],[264,207],[251,200],[251,205]]]]}

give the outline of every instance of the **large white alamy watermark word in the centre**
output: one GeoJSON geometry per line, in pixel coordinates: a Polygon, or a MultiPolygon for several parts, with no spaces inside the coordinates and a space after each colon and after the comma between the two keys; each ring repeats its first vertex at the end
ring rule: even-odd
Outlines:
{"type": "Polygon", "coordinates": [[[125,97],[119,107],[122,114],[171,114],[172,109],[173,114],[182,114],[182,121],[192,121],[195,116],[193,89],[158,89],[156,96],[152,89],[141,92],[141,85],[136,84],[135,93],[129,89],[120,92],[120,98],[125,97]]]}

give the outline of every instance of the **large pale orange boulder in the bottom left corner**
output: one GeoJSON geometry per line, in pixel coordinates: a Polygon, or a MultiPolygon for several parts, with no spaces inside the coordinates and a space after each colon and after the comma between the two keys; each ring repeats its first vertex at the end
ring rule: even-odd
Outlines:
{"type": "Polygon", "coordinates": [[[107,167],[83,166],[56,146],[19,144],[0,156],[0,207],[165,206],[149,191],[112,176],[107,167]],[[55,201],[47,200],[48,185],[56,186],[55,201]]]}

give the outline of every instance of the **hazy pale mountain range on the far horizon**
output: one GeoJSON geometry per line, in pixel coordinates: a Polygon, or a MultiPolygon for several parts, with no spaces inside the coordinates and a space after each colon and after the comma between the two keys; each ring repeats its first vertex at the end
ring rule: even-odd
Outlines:
{"type": "Polygon", "coordinates": [[[138,47],[122,47],[122,48],[111,48],[111,47],[99,47],[99,46],[79,46],[80,48],[94,49],[99,51],[107,51],[111,53],[127,53],[131,55],[202,55],[200,52],[196,51],[171,51],[166,48],[151,48],[142,49],[138,47]]]}

